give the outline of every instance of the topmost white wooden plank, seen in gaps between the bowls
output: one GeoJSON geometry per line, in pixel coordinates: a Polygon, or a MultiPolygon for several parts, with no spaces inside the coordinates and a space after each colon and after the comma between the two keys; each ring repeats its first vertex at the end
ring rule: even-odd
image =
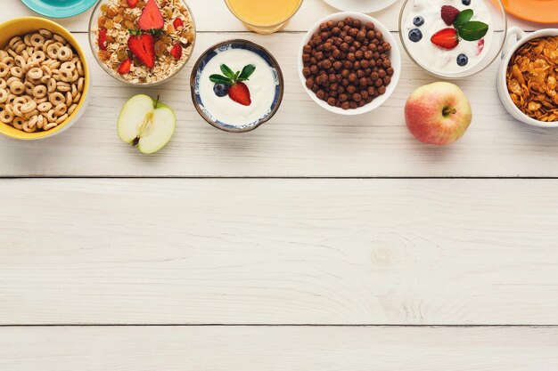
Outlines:
{"type": "MultiPolygon", "coordinates": [[[[192,7],[198,30],[202,32],[245,30],[242,23],[229,12],[224,0],[190,0],[188,4],[192,7]]],[[[398,3],[393,4],[390,8],[372,15],[385,24],[386,27],[390,28],[390,30],[398,31],[399,9],[402,4],[403,0],[399,0],[398,3]]],[[[321,20],[332,12],[338,11],[321,0],[305,0],[300,11],[288,23],[285,30],[306,31],[316,23],[316,21],[321,20]]],[[[0,21],[29,15],[35,15],[35,13],[29,11],[20,1],[14,0],[10,3],[10,6],[4,9],[4,12],[0,14],[0,21]]],[[[70,31],[86,32],[89,27],[88,22],[90,16],[91,11],[81,14],[78,17],[56,21],[62,23],[62,25],[69,28],[70,31]]],[[[519,20],[513,16],[509,17],[509,22],[510,26],[518,26],[529,30],[541,28],[541,25],[519,20]]],[[[552,27],[553,25],[548,26],[552,27]]],[[[558,25],[554,25],[554,27],[555,26],[558,25]]]]}

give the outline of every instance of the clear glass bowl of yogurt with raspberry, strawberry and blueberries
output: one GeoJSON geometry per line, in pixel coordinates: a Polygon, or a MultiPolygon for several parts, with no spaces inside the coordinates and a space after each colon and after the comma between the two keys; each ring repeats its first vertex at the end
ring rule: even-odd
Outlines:
{"type": "Polygon", "coordinates": [[[506,30],[500,0],[406,0],[399,16],[411,60],[448,79],[486,69],[502,51],[506,30]]]}

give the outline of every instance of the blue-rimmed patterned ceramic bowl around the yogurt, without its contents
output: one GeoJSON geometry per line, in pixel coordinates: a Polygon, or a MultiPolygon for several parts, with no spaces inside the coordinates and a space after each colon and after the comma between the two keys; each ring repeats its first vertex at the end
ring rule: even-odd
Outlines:
{"type": "Polygon", "coordinates": [[[269,121],[271,117],[274,117],[275,113],[281,106],[284,92],[283,72],[281,71],[281,67],[279,67],[279,63],[277,62],[277,60],[275,60],[274,56],[271,55],[271,53],[268,52],[266,48],[258,44],[254,44],[248,40],[227,40],[209,47],[208,50],[201,54],[201,57],[193,66],[192,76],[190,77],[190,88],[192,92],[193,106],[196,108],[200,116],[205,121],[207,121],[210,125],[217,127],[217,129],[229,133],[245,133],[256,129],[259,125],[262,125],[269,121]],[[215,58],[219,52],[226,52],[231,49],[244,49],[258,54],[258,56],[266,61],[267,65],[271,69],[275,83],[275,98],[269,109],[267,109],[267,112],[262,117],[259,117],[257,120],[242,125],[226,123],[213,117],[211,112],[206,109],[200,93],[200,80],[203,69],[205,69],[209,61],[215,58]]]}

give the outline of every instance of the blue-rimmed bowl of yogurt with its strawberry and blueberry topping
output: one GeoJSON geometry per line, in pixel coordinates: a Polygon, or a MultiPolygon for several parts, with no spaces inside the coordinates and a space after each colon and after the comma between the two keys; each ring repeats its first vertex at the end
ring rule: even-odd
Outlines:
{"type": "Polygon", "coordinates": [[[192,101],[217,129],[244,133],[266,123],[283,101],[283,73],[274,56],[248,40],[215,44],[201,54],[190,78],[192,101]]]}

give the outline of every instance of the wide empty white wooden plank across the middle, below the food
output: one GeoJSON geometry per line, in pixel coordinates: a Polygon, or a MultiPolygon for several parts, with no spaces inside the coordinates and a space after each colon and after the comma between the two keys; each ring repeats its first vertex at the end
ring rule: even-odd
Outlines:
{"type": "Polygon", "coordinates": [[[558,325],[555,180],[0,181],[0,324],[558,325]]]}

